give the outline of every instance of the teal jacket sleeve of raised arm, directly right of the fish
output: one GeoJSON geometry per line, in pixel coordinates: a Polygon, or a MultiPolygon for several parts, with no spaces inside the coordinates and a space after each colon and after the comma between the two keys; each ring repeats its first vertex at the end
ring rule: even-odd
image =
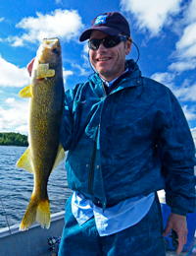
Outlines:
{"type": "Polygon", "coordinates": [[[63,104],[62,123],[59,140],[65,151],[68,151],[72,144],[73,136],[73,90],[65,93],[63,104]]]}

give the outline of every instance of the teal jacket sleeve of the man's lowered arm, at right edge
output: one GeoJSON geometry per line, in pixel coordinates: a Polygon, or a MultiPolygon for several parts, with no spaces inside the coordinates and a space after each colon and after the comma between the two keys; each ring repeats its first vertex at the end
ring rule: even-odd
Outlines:
{"type": "Polygon", "coordinates": [[[181,106],[170,90],[169,98],[158,148],[166,179],[166,202],[172,213],[186,216],[195,211],[195,147],[181,106]]]}

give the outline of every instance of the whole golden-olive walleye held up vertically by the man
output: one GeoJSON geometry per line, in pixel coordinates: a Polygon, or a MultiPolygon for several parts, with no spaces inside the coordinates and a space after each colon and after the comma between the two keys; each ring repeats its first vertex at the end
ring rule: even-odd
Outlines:
{"type": "Polygon", "coordinates": [[[63,112],[64,81],[59,38],[44,38],[32,66],[30,85],[21,92],[29,97],[28,148],[17,167],[33,173],[34,186],[20,230],[34,223],[50,226],[47,193],[49,176],[65,158],[59,141],[63,112]]]}

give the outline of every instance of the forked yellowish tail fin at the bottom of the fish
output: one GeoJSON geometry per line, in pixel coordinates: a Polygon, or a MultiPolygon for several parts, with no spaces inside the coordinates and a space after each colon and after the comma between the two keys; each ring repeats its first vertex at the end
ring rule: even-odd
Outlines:
{"type": "Polygon", "coordinates": [[[37,199],[31,196],[25,216],[20,225],[20,230],[25,231],[30,225],[38,223],[41,227],[49,228],[50,226],[50,205],[47,199],[37,199]]]}

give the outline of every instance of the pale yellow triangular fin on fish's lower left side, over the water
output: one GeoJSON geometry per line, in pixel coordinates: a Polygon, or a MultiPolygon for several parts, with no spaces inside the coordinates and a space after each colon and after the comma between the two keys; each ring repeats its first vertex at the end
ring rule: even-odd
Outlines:
{"type": "Polygon", "coordinates": [[[34,172],[29,147],[27,148],[21,159],[18,160],[17,167],[20,169],[25,169],[31,173],[34,172]]]}

